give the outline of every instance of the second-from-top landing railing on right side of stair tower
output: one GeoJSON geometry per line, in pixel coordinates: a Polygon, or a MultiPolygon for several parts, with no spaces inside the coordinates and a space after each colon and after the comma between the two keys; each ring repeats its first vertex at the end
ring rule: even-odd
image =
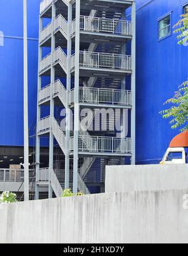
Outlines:
{"type": "MultiPolygon", "coordinates": [[[[72,59],[72,66],[74,64],[75,61],[72,59]]],[[[131,70],[131,56],[80,51],[80,66],[89,68],[131,70]]]]}

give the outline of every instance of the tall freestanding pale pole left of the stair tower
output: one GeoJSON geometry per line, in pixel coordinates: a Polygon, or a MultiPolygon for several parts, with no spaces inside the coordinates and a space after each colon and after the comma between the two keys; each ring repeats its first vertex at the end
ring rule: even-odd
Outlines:
{"type": "Polygon", "coordinates": [[[23,0],[24,19],[24,201],[29,200],[29,129],[28,129],[28,31],[27,0],[23,0]]]}

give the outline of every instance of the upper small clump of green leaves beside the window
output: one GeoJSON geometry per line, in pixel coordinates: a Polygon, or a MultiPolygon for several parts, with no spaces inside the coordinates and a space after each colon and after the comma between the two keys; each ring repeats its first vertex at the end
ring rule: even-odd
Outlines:
{"type": "Polygon", "coordinates": [[[174,33],[179,34],[177,36],[178,44],[183,45],[184,39],[188,36],[188,14],[181,15],[181,19],[175,24],[174,28],[176,28],[174,33]]]}

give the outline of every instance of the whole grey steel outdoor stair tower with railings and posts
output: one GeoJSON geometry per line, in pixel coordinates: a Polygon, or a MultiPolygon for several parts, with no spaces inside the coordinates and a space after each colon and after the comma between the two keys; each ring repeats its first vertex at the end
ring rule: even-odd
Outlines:
{"type": "MultiPolygon", "coordinates": [[[[36,199],[39,186],[48,186],[49,198],[53,192],[61,196],[63,188],[71,186],[74,193],[88,194],[86,183],[90,183],[90,176],[97,175],[96,168],[102,180],[106,164],[120,164],[126,157],[135,164],[135,1],[41,1],[38,55],[36,199]],[[131,19],[126,20],[128,9],[131,19]],[[127,45],[131,48],[129,55],[127,45]],[[46,48],[50,49],[48,55],[44,53],[46,48]],[[50,78],[50,84],[44,84],[44,77],[50,78]],[[50,106],[50,115],[41,118],[43,105],[50,106]],[[66,130],[55,117],[56,105],[66,110],[66,130]],[[96,109],[126,109],[131,117],[130,136],[85,131],[80,124],[84,108],[92,111],[89,122],[95,120],[102,126],[103,120],[95,116],[96,109]],[[47,135],[49,166],[42,168],[40,141],[47,135]],[[63,185],[53,164],[55,140],[65,156],[63,185]]],[[[119,115],[121,120],[122,112],[119,115]]],[[[115,124],[109,119],[108,125],[115,124]]]]}

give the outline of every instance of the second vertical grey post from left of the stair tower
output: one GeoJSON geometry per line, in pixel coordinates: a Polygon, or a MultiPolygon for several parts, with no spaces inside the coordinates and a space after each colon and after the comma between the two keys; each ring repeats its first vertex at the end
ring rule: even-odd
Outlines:
{"type": "Polygon", "coordinates": [[[52,4],[51,15],[51,87],[50,87],[50,152],[49,152],[49,186],[48,186],[48,198],[53,197],[53,189],[51,188],[51,169],[53,169],[53,147],[54,136],[52,132],[52,118],[54,117],[54,99],[53,99],[53,86],[55,82],[55,68],[53,67],[53,53],[55,51],[55,35],[53,35],[53,26],[56,18],[56,6],[52,4]]]}

